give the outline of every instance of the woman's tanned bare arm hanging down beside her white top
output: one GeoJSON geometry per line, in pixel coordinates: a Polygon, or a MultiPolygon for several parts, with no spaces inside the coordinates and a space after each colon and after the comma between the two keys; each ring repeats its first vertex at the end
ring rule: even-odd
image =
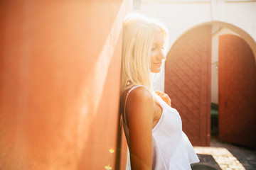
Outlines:
{"type": "Polygon", "coordinates": [[[127,98],[126,113],[129,125],[129,151],[132,170],[151,170],[153,96],[143,87],[134,89],[127,98]]]}

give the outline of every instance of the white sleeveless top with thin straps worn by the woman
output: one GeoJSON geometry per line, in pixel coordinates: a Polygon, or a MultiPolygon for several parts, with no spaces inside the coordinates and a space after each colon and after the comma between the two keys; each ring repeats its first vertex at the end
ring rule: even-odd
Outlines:
{"type": "MultiPolygon", "coordinates": [[[[127,93],[125,106],[129,93],[139,86],[133,86],[127,93]]],[[[146,88],[146,86],[144,86],[146,88]]],[[[147,88],[146,88],[147,89],[147,88]]],[[[147,89],[149,91],[149,89],[147,89]]],[[[161,118],[152,130],[154,170],[188,170],[193,163],[199,162],[188,137],[182,131],[181,117],[176,109],[167,105],[155,92],[149,91],[163,108],[161,118]]],[[[124,133],[129,144],[129,128],[123,118],[124,133]]]]}

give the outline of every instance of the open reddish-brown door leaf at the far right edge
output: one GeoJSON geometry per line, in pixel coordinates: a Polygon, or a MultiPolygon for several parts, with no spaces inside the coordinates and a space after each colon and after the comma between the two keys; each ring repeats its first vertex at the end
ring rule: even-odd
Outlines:
{"type": "Polygon", "coordinates": [[[249,45],[219,37],[219,138],[256,147],[256,67],[249,45]]]}

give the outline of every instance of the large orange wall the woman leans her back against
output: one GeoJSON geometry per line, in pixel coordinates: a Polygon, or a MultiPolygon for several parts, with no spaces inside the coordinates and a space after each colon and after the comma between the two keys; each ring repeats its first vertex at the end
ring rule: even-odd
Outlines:
{"type": "Polygon", "coordinates": [[[0,169],[117,169],[131,9],[129,0],[0,2],[0,169]]]}

